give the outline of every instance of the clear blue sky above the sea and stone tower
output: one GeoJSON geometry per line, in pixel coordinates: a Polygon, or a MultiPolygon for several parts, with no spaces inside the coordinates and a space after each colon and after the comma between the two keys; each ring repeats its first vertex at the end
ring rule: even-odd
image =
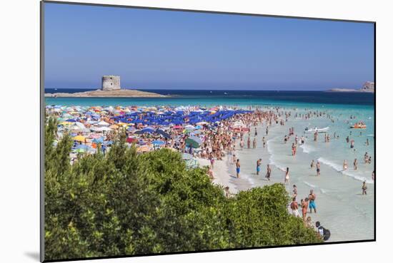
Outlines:
{"type": "Polygon", "coordinates": [[[326,90],[374,81],[374,25],[45,4],[45,88],[326,90]]]}

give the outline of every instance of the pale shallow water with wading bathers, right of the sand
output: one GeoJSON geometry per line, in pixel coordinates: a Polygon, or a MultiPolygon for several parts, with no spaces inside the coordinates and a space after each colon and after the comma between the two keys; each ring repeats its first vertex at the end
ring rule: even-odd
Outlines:
{"type": "MultiPolygon", "coordinates": [[[[300,110],[299,110],[300,111],[300,110]]],[[[329,241],[347,241],[374,238],[374,182],[372,164],[364,164],[363,155],[367,151],[374,154],[374,138],[367,135],[374,134],[372,110],[352,110],[348,108],[329,109],[335,122],[325,117],[312,118],[311,120],[291,118],[284,126],[272,125],[267,135],[267,148],[262,148],[262,134],[265,125],[258,128],[257,148],[237,150],[237,155],[242,163],[242,178],[249,180],[252,186],[262,186],[274,182],[284,182],[285,172],[289,167],[290,183],[287,190],[292,193],[292,185],[297,185],[297,201],[304,199],[313,189],[317,195],[317,214],[310,216],[314,222],[320,221],[324,227],[332,232],[329,241]],[[367,129],[352,130],[355,140],[356,151],[349,148],[345,141],[351,129],[345,120],[351,114],[356,114],[357,120],[365,120],[367,129]],[[368,119],[368,117],[372,117],[368,119]],[[306,127],[319,128],[329,126],[331,135],[330,143],[324,143],[324,135],[319,134],[319,140],[314,142],[314,135],[308,135],[304,145],[298,146],[297,155],[292,156],[291,146],[294,135],[287,143],[284,143],[284,135],[287,135],[290,127],[294,127],[295,135],[302,136],[306,127]],[[334,139],[333,133],[339,135],[334,139]],[[369,145],[364,144],[369,138],[369,145]],[[256,175],[257,159],[262,158],[262,172],[256,175]],[[358,170],[353,169],[354,158],[358,160],[358,170]],[[317,176],[316,168],[310,168],[311,161],[321,163],[321,175],[317,176]],[[348,162],[348,170],[342,171],[342,163],[348,162]],[[265,180],[267,163],[273,165],[271,181],[265,180]],[[362,182],[367,181],[367,195],[362,195],[362,182]]],[[[266,136],[266,135],[265,135],[266,136]]],[[[252,138],[253,138],[252,133],[252,138]]],[[[247,138],[247,136],[246,136],[247,138]]],[[[373,156],[372,156],[373,157],[373,156]]]]}

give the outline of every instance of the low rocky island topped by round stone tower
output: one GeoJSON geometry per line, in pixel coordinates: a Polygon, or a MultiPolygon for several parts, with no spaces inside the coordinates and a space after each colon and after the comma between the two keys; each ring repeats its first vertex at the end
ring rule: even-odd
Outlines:
{"type": "Polygon", "coordinates": [[[120,87],[120,76],[102,76],[101,89],[96,91],[84,91],[76,93],[45,93],[47,98],[105,98],[105,97],[119,97],[119,98],[137,98],[137,97],[167,97],[158,93],[147,91],[136,91],[131,89],[124,89],[120,87]]]}

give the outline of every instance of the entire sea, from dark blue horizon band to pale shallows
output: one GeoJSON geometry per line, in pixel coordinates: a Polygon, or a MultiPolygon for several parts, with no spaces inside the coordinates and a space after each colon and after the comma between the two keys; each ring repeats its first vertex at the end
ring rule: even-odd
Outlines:
{"type": "MultiPolygon", "coordinates": [[[[46,92],[54,92],[46,91],[46,92]]],[[[61,92],[61,91],[57,91],[61,92]]],[[[247,180],[250,187],[257,187],[284,182],[284,171],[289,167],[290,182],[287,190],[292,192],[292,185],[297,185],[297,201],[308,196],[309,190],[317,195],[317,214],[310,214],[314,222],[332,232],[329,241],[349,241],[374,238],[374,94],[371,93],[326,93],[315,91],[154,91],[161,94],[175,95],[168,98],[46,98],[47,105],[200,105],[211,107],[227,105],[249,108],[262,107],[292,112],[291,118],[284,126],[273,124],[269,127],[269,135],[264,135],[266,123],[258,127],[257,148],[237,149],[242,170],[241,177],[247,180]],[[324,111],[334,120],[322,116],[309,120],[294,118],[295,113],[309,110],[324,111]],[[350,116],[354,116],[351,119],[350,116]],[[350,125],[362,120],[366,129],[356,130],[350,125]],[[324,143],[324,134],[319,134],[314,142],[314,134],[304,133],[305,128],[324,128],[329,126],[330,143],[324,143]],[[289,128],[294,128],[299,142],[302,135],[304,145],[298,145],[297,155],[292,156],[291,145],[294,135],[284,143],[284,135],[289,128]],[[339,136],[334,138],[333,134],[339,136]],[[266,148],[262,147],[262,137],[267,140],[266,148]],[[355,147],[345,138],[354,139],[355,147]],[[366,140],[369,139],[369,145],[366,140]],[[364,153],[372,156],[372,163],[364,163],[364,153]],[[262,158],[262,169],[256,175],[257,159],[262,158]],[[357,158],[358,169],[354,170],[353,162],[357,158]],[[316,168],[310,163],[317,160],[321,163],[321,175],[317,176],[316,168]],[[342,170],[347,160],[348,169],[342,170]],[[272,165],[271,181],[264,178],[266,165],[272,165]],[[367,195],[362,195],[362,182],[367,182],[367,195]]],[[[254,129],[251,140],[254,138],[254,129]]],[[[246,135],[247,140],[247,135],[246,135]]],[[[245,143],[247,146],[247,143],[245,143]]],[[[234,178],[235,167],[229,163],[229,172],[234,178]]],[[[236,184],[235,184],[236,185],[236,184]]]]}

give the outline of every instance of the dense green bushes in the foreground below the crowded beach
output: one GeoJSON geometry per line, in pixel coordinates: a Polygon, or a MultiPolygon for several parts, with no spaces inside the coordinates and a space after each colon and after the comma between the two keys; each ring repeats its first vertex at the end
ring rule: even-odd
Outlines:
{"type": "Polygon", "coordinates": [[[71,165],[73,141],[54,145],[56,127],[46,118],[46,260],[322,242],[289,215],[282,184],[225,197],[206,168],[168,149],[139,154],[123,133],[71,165]]]}

